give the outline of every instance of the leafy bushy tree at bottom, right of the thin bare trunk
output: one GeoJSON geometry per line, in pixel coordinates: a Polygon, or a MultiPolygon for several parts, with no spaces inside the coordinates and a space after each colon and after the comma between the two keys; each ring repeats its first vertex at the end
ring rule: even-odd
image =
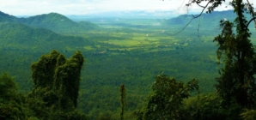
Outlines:
{"type": "Polygon", "coordinates": [[[143,113],[138,113],[143,120],[182,119],[186,118],[183,99],[187,99],[192,91],[198,90],[198,81],[193,79],[186,84],[176,81],[167,75],[157,75],[152,85],[153,93],[149,94],[143,113]]]}

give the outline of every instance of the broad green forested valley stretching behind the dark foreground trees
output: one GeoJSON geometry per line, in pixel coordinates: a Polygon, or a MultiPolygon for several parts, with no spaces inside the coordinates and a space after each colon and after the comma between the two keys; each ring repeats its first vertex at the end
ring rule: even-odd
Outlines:
{"type": "Polygon", "coordinates": [[[161,71],[182,81],[197,78],[202,93],[214,91],[216,46],[211,42],[212,38],[198,38],[192,35],[197,32],[189,30],[169,36],[168,33],[179,31],[183,25],[171,29],[163,21],[154,19],[119,20],[119,24],[107,21],[105,25],[94,22],[101,29],[77,32],[73,34],[76,37],[70,36],[74,32],[72,29],[61,25],[59,29],[71,30],[67,33],[69,36],[34,26],[37,22],[26,23],[28,26],[20,23],[1,25],[1,62],[4,63],[1,71],[15,76],[21,91],[27,93],[33,87],[28,67],[42,54],[55,49],[69,57],[76,50],[82,51],[86,62],[78,108],[90,117],[118,116],[118,87],[121,83],[127,88],[127,110],[138,109],[147,98],[155,75],[161,71]],[[160,22],[163,25],[159,25],[160,22]],[[139,25],[142,23],[144,25],[139,25]]]}

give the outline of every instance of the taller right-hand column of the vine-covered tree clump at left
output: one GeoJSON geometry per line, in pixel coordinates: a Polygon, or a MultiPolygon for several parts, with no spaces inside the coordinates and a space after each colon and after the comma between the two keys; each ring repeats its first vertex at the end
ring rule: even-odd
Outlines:
{"type": "Polygon", "coordinates": [[[76,108],[78,91],[80,86],[81,69],[84,59],[80,51],[67,60],[64,65],[55,69],[54,90],[57,91],[62,100],[70,99],[72,105],[76,108]]]}

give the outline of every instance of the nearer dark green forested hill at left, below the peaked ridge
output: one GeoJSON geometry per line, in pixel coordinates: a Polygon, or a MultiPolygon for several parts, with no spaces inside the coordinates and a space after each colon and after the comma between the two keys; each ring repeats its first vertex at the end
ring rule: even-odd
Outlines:
{"type": "Polygon", "coordinates": [[[89,45],[88,40],[80,37],[64,36],[44,28],[33,28],[21,23],[0,23],[0,42],[2,48],[44,50],[66,50],[64,46],[76,47],[89,45]]]}

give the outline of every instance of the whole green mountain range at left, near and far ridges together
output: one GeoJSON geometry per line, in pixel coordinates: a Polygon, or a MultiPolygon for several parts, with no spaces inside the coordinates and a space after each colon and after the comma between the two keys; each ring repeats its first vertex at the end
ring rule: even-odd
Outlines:
{"type": "Polygon", "coordinates": [[[64,51],[76,48],[79,50],[85,45],[94,43],[82,37],[60,33],[86,32],[95,27],[97,26],[93,23],[86,21],[78,23],[56,13],[17,18],[0,12],[0,49],[64,51]]]}

